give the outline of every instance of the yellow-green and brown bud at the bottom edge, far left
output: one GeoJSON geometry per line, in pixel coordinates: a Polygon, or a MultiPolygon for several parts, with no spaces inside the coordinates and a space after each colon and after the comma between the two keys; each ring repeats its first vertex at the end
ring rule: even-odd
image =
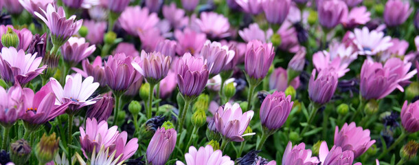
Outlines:
{"type": "Polygon", "coordinates": [[[58,142],[60,137],[56,138],[56,134],[47,136],[46,133],[41,137],[41,140],[36,144],[35,155],[38,158],[39,164],[46,164],[54,159],[58,153],[58,142]]]}

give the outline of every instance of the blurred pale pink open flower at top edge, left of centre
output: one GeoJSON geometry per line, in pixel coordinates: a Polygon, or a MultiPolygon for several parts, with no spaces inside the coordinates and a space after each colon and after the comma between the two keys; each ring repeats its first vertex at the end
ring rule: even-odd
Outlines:
{"type": "Polygon", "coordinates": [[[146,32],[154,28],[159,22],[159,17],[157,17],[156,13],[150,13],[148,8],[141,8],[139,5],[136,5],[128,6],[122,12],[118,21],[120,22],[121,28],[128,32],[128,34],[138,36],[138,32],[146,32]]]}

